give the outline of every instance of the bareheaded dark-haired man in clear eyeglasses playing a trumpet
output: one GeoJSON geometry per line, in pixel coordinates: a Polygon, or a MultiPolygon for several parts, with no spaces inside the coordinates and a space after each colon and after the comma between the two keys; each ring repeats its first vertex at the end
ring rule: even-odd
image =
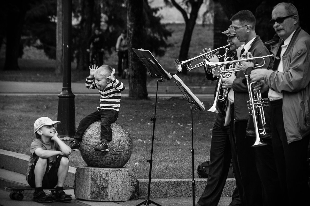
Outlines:
{"type": "MultiPolygon", "coordinates": [[[[237,12],[230,19],[231,27],[236,33],[239,41],[244,41],[243,51],[249,51],[254,57],[269,55],[268,48],[256,35],[256,19],[252,12],[242,10],[237,12]]],[[[244,52],[241,51],[241,54],[244,52]]],[[[265,59],[263,68],[267,68],[270,58],[265,59]]],[[[262,65],[263,60],[257,60],[262,65]]],[[[247,68],[247,62],[241,62],[241,66],[247,68]]],[[[231,132],[230,143],[232,149],[232,163],[235,171],[236,184],[241,197],[242,205],[262,205],[262,189],[259,174],[255,164],[255,151],[253,137],[246,137],[246,128],[248,124],[249,110],[247,100],[249,100],[247,86],[242,80],[244,73],[239,71],[236,76],[223,79],[223,88],[230,88],[228,100],[231,108],[231,132]]]]}

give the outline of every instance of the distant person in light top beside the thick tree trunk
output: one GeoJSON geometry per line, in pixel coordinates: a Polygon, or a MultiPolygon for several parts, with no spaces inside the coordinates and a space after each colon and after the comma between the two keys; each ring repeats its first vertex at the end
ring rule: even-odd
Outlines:
{"type": "Polygon", "coordinates": [[[126,59],[126,68],[128,68],[128,48],[127,48],[127,30],[124,29],[121,35],[117,38],[116,42],[116,51],[118,56],[118,65],[117,72],[118,76],[122,76],[123,68],[122,68],[122,58],[126,59]]]}

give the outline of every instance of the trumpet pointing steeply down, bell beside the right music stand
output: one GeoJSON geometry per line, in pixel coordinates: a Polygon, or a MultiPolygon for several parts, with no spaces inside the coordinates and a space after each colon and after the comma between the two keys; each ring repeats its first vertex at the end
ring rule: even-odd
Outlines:
{"type": "MultiPolygon", "coordinates": [[[[225,58],[224,58],[224,61],[227,61],[228,59],[233,59],[232,57],[226,57],[227,56],[227,52],[228,52],[228,48],[226,48],[225,50],[225,58]]],[[[222,68],[220,69],[221,71],[225,71],[226,70],[226,65],[223,65],[222,68]]],[[[223,95],[220,95],[220,90],[222,88],[222,80],[223,78],[227,78],[229,75],[227,75],[226,73],[224,72],[219,72],[220,74],[218,74],[218,85],[217,85],[217,89],[216,89],[216,93],[215,93],[215,98],[214,98],[214,102],[213,102],[213,105],[210,109],[208,109],[208,111],[212,111],[212,112],[215,112],[215,113],[220,113],[219,110],[217,109],[217,104],[218,102],[223,102],[226,98],[227,98],[227,95],[228,95],[228,89],[225,88],[223,89],[223,95]]]]}

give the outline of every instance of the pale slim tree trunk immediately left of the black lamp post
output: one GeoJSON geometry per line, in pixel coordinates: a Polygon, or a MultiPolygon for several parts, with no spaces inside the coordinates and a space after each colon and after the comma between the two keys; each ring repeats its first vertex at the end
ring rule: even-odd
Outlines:
{"type": "Polygon", "coordinates": [[[63,16],[63,5],[62,0],[57,0],[57,25],[56,25],[56,68],[55,73],[60,75],[62,73],[62,16],[63,16]]]}

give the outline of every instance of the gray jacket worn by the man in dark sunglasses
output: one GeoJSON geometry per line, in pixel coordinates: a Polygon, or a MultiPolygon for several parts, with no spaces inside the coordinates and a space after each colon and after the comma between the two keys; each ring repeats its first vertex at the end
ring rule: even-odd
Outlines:
{"type": "Polygon", "coordinates": [[[310,35],[298,27],[283,54],[283,72],[265,77],[268,86],[283,94],[287,143],[310,134],[310,35]]]}

